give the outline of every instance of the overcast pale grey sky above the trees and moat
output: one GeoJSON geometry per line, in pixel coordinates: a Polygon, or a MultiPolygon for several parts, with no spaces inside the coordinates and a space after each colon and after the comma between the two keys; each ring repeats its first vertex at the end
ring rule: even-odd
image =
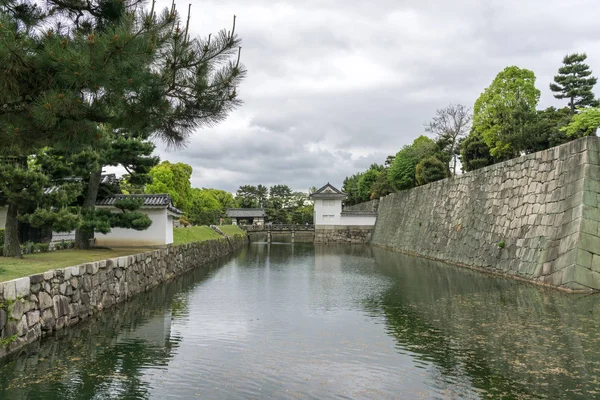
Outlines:
{"type": "Polygon", "coordinates": [[[193,187],[341,187],[424,134],[437,109],[472,107],[507,66],[534,71],[538,108],[564,105],[548,85],[566,54],[587,52],[600,75],[596,2],[191,0],[194,35],[237,16],[244,103],[159,155],[191,165],[193,187]]]}

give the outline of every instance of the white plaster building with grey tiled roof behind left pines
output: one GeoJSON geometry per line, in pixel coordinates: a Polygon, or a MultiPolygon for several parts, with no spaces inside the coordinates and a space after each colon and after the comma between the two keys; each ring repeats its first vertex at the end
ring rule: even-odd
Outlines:
{"type": "Polygon", "coordinates": [[[144,231],[112,228],[109,233],[96,233],[96,245],[106,247],[163,246],[173,243],[173,222],[183,215],[183,211],[173,206],[168,194],[115,195],[96,202],[96,208],[107,208],[121,212],[114,207],[119,199],[142,198],[144,205],[140,212],[148,215],[152,225],[144,231]]]}

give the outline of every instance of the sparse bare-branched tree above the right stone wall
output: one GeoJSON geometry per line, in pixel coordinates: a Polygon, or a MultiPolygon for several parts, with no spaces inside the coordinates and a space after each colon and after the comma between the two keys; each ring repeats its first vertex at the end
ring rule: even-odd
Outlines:
{"type": "Polygon", "coordinates": [[[456,163],[460,154],[460,139],[465,137],[471,126],[471,110],[462,104],[450,104],[438,109],[436,116],[425,124],[425,131],[447,141],[447,152],[452,157],[452,175],[456,175],[456,163]]]}

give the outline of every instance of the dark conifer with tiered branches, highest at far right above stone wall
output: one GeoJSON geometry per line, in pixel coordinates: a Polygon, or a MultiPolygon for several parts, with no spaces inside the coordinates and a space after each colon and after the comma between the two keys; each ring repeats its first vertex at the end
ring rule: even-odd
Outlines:
{"type": "Polygon", "coordinates": [[[569,99],[571,115],[575,114],[577,107],[598,107],[598,100],[594,98],[592,89],[598,79],[591,76],[589,65],[584,61],[587,59],[585,53],[567,54],[563,58],[563,66],[558,69],[558,75],[554,77],[554,83],[550,84],[550,90],[557,99],[569,99]]]}

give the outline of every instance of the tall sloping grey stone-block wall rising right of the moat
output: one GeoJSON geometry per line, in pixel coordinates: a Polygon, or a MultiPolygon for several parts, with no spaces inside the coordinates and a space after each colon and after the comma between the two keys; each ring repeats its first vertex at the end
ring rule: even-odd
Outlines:
{"type": "Polygon", "coordinates": [[[388,195],[372,244],[568,290],[600,290],[600,139],[388,195]]]}

